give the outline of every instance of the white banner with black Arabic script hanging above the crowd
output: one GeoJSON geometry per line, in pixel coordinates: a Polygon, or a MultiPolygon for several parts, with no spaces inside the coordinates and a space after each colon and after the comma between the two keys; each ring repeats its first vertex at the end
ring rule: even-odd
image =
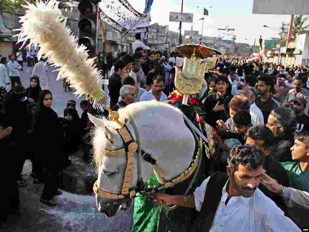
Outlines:
{"type": "Polygon", "coordinates": [[[127,0],[102,0],[99,9],[101,20],[121,34],[144,31],[149,27],[150,15],[139,13],[127,0]]]}

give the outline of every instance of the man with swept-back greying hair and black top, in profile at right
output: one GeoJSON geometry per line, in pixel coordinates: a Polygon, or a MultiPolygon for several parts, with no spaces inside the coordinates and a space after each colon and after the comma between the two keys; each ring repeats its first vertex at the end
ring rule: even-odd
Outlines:
{"type": "Polygon", "coordinates": [[[296,115],[287,107],[271,111],[266,124],[274,135],[273,149],[270,154],[279,162],[291,161],[290,148],[293,146],[293,134],[296,130],[296,115]]]}

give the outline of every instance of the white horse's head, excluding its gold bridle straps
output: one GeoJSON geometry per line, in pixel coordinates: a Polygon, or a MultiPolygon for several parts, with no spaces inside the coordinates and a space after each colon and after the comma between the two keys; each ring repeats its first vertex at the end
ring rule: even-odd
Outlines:
{"type": "MultiPolygon", "coordinates": [[[[93,131],[92,144],[94,161],[98,173],[97,186],[104,192],[121,194],[127,157],[126,155],[117,157],[108,157],[105,155],[106,150],[115,151],[125,147],[121,136],[115,129],[119,127],[119,125],[116,122],[96,118],[91,114],[88,114],[88,117],[96,127],[93,131]]],[[[127,127],[132,131],[130,125],[127,127]]],[[[132,134],[132,137],[133,136],[132,134]]],[[[133,137],[133,139],[135,140],[136,138],[133,137]]],[[[133,165],[136,166],[136,161],[134,161],[133,165]]],[[[137,173],[133,171],[131,185],[136,185],[136,183],[137,173]]],[[[132,206],[132,203],[133,201],[129,197],[110,199],[96,194],[96,206],[99,212],[104,213],[106,217],[113,217],[117,213],[118,208],[120,208],[120,205],[123,210],[126,210],[132,206]]]]}

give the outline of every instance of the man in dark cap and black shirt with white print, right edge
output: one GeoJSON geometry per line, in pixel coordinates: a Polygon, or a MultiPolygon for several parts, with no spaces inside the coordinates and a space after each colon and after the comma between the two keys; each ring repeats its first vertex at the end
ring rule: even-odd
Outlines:
{"type": "Polygon", "coordinates": [[[297,120],[296,131],[308,131],[309,117],[303,113],[306,107],[306,100],[303,97],[296,97],[292,104],[291,108],[294,110],[297,120]]]}

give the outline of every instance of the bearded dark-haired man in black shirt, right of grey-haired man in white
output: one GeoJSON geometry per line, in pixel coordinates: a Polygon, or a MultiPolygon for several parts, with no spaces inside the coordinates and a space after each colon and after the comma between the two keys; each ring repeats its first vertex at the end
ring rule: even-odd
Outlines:
{"type": "Polygon", "coordinates": [[[273,86],[273,78],[269,75],[264,75],[257,79],[257,92],[260,97],[255,100],[255,104],[262,111],[265,124],[267,123],[270,112],[277,108],[275,101],[270,96],[270,90],[273,86]]]}

